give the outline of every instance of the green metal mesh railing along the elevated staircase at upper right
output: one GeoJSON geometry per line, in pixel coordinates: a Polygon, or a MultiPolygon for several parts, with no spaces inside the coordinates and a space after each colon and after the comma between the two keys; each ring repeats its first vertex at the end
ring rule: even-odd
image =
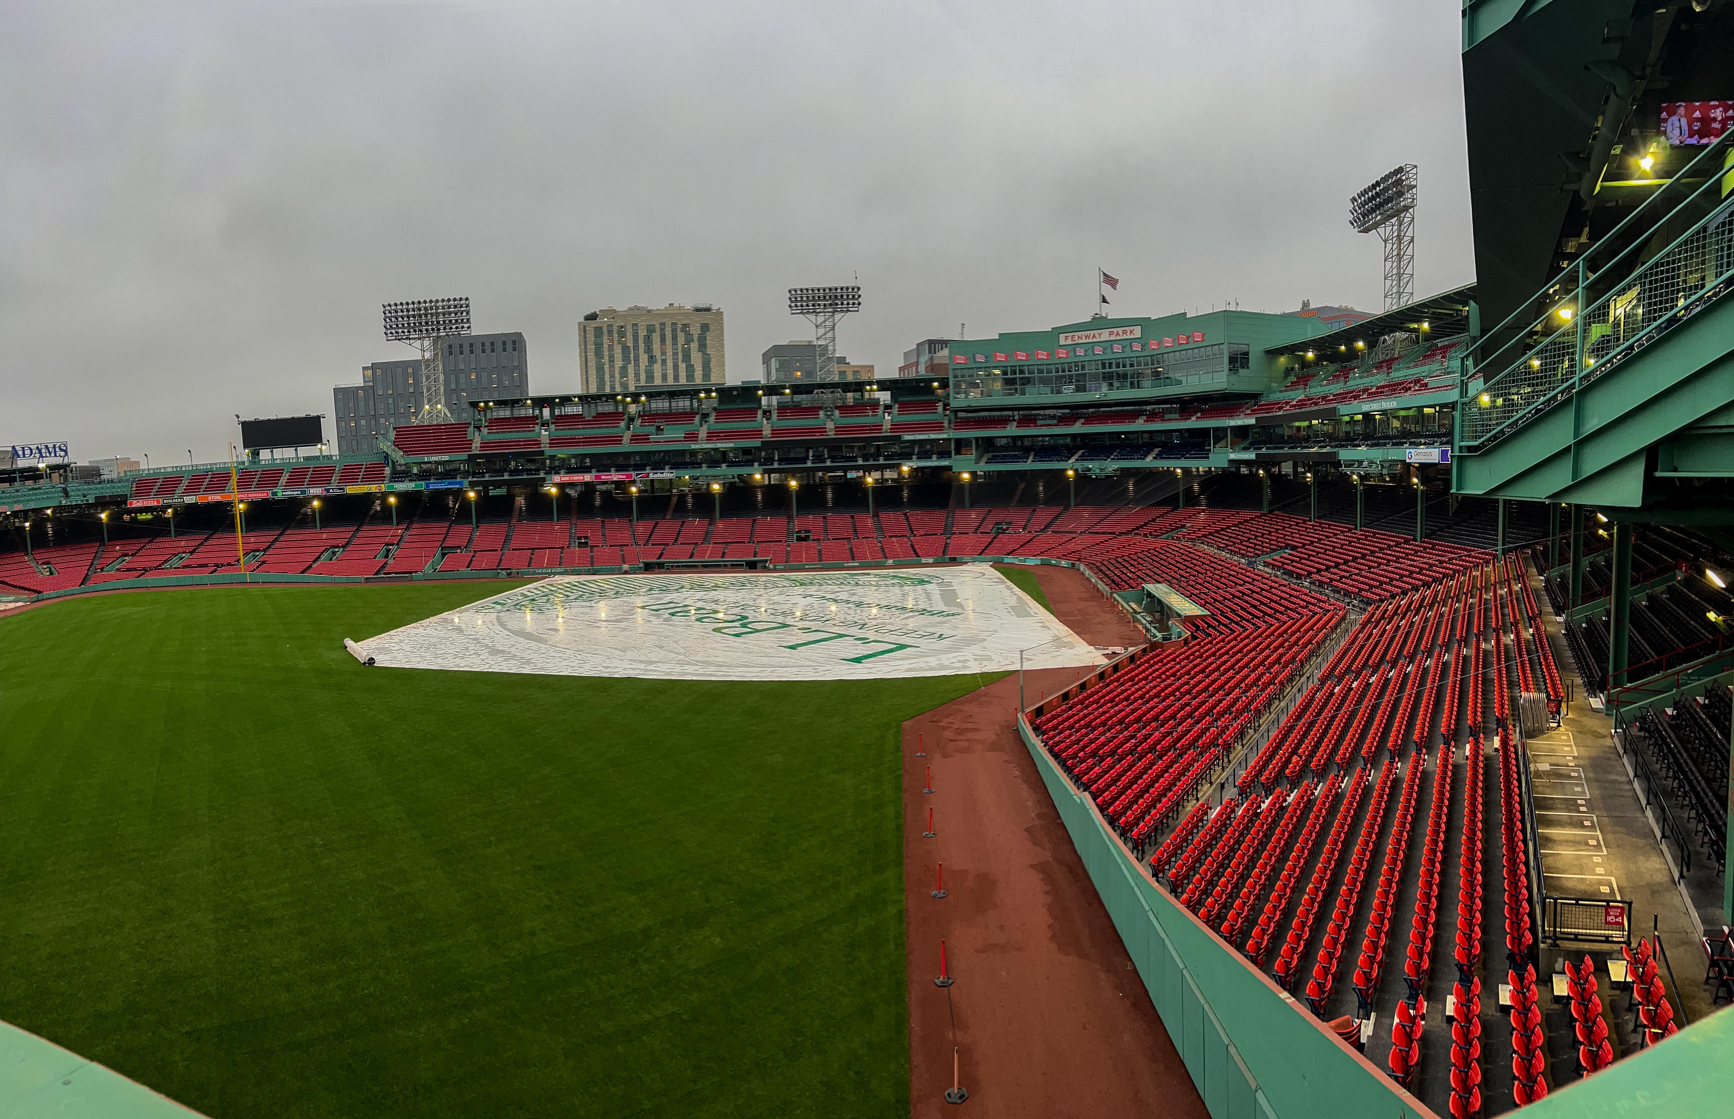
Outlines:
{"type": "MultiPolygon", "coordinates": [[[[1718,140],[1718,144],[1722,142],[1718,140]]],[[[1720,177],[1706,180],[1675,210],[1699,201],[1699,196],[1710,189],[1720,189],[1720,177]]],[[[1729,281],[1734,279],[1734,222],[1731,217],[1734,217],[1734,196],[1713,206],[1708,215],[1679,234],[1663,251],[1628,272],[1616,270],[1613,265],[1642,248],[1644,243],[1626,246],[1595,275],[1588,274],[1587,262],[1580,258],[1576,289],[1564,294],[1554,312],[1536,319],[1519,338],[1495,352],[1498,355],[1512,346],[1522,346],[1516,362],[1505,365],[1493,378],[1483,378],[1483,391],[1474,400],[1469,397],[1472,374],[1465,372],[1458,400],[1462,442],[1483,445],[1509,433],[1540,411],[1566,400],[1587,381],[1725,294],[1729,281]],[[1609,272],[1620,272],[1620,275],[1609,277],[1609,272]],[[1590,301],[1592,284],[1606,288],[1606,293],[1594,303],[1590,301]],[[1651,291],[1653,288],[1661,291],[1651,291]],[[1646,305],[1653,308],[1658,303],[1663,303],[1666,310],[1646,314],[1646,305]],[[1569,317],[1561,319],[1559,312],[1568,307],[1571,308],[1569,317]],[[1606,329],[1588,331],[1592,319],[1604,308],[1607,322],[1594,326],[1606,326],[1606,329]],[[1630,333],[1626,333],[1628,315],[1639,324],[1630,333]],[[1600,355],[1594,353],[1595,346],[1616,334],[1616,327],[1620,343],[1600,355]],[[1543,333],[1545,338],[1535,341],[1543,333]]]]}

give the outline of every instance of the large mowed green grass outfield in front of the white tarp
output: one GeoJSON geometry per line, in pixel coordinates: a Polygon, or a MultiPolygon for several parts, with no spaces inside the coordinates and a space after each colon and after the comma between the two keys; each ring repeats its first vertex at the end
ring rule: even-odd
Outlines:
{"type": "Polygon", "coordinates": [[[0,618],[0,1019],[220,1119],[909,1114],[898,724],[985,681],[343,651],[508,585],[0,618]]]}

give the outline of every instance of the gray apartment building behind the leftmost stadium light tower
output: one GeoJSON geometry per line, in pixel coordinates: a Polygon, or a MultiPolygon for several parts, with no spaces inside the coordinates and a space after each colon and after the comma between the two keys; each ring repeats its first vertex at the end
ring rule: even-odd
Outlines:
{"type": "MultiPolygon", "coordinates": [[[[522,397],[531,391],[529,348],[524,334],[465,334],[440,340],[440,376],[446,411],[454,421],[473,416],[472,400],[522,397]]],[[[361,367],[361,385],[331,390],[336,409],[336,452],[368,454],[378,437],[421,414],[421,359],[406,355],[361,367]]]]}

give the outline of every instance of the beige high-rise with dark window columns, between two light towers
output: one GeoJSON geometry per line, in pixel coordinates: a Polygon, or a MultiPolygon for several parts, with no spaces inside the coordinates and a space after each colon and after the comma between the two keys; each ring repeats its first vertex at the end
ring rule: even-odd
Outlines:
{"type": "Polygon", "coordinates": [[[593,310],[577,324],[577,365],[586,393],[723,385],[723,312],[709,303],[593,310]]]}

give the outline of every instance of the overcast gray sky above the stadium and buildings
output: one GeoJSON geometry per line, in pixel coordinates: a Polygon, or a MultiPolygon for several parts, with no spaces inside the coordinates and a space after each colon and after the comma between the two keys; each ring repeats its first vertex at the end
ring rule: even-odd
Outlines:
{"type": "MultiPolygon", "coordinates": [[[[0,0],[0,443],[222,457],[468,294],[577,388],[577,319],[713,301],[730,379],[839,350],[1302,298],[1377,308],[1347,196],[1418,163],[1417,294],[1472,279],[1448,0],[0,0]]],[[[329,433],[329,426],[328,426],[329,433]]]]}

